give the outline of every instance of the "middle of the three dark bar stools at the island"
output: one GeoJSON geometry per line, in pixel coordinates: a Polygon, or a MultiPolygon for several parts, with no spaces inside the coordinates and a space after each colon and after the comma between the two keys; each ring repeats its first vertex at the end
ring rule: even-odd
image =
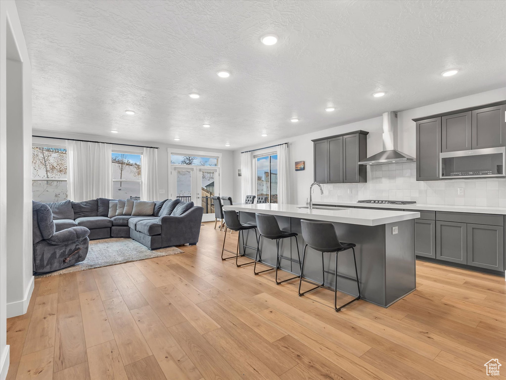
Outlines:
{"type": "Polygon", "coordinates": [[[301,271],[302,271],[301,255],[299,252],[299,244],[297,243],[297,234],[295,232],[281,231],[281,229],[279,228],[278,221],[276,220],[274,215],[255,214],[255,218],[257,220],[257,227],[258,227],[258,231],[260,232],[260,236],[258,238],[258,243],[257,243],[257,255],[255,257],[255,267],[253,269],[253,273],[260,274],[260,273],[276,270],[276,284],[277,285],[279,285],[283,282],[286,282],[286,281],[290,281],[290,280],[299,278],[300,276],[295,276],[295,277],[290,277],[290,278],[283,280],[283,281],[278,281],[278,269],[279,269],[279,264],[280,264],[281,259],[288,260],[293,263],[298,263],[299,267],[301,267],[301,271]],[[262,238],[262,237],[264,237],[266,239],[276,240],[276,266],[264,263],[262,261],[262,252],[260,251],[260,238],[262,238]],[[295,238],[295,243],[297,245],[297,256],[299,257],[299,260],[294,260],[292,258],[279,256],[279,241],[281,239],[292,238],[292,237],[295,238]],[[265,265],[267,267],[271,267],[271,269],[266,269],[264,271],[257,272],[257,262],[262,265],[265,265]]]}

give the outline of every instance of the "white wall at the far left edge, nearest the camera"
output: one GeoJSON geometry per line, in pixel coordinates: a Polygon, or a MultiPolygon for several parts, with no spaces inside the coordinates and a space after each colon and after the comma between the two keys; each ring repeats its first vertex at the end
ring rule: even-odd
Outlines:
{"type": "Polygon", "coordinates": [[[6,318],[26,312],[33,289],[30,136],[31,67],[16,4],[6,0],[0,2],[1,379],[6,378],[9,369],[6,318]],[[11,164],[16,166],[16,173],[8,170],[11,164]],[[16,217],[11,220],[12,207],[16,217]],[[14,236],[8,226],[16,227],[14,236]]]}

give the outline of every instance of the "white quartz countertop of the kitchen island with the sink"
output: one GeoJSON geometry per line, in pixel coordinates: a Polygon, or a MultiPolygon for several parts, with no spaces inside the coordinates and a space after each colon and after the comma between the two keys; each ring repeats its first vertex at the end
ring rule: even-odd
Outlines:
{"type": "Polygon", "coordinates": [[[234,204],[223,206],[225,210],[248,213],[278,215],[282,217],[301,218],[323,222],[359,224],[362,226],[379,226],[420,217],[417,212],[390,210],[370,210],[361,208],[318,209],[300,208],[297,204],[234,204]]]}

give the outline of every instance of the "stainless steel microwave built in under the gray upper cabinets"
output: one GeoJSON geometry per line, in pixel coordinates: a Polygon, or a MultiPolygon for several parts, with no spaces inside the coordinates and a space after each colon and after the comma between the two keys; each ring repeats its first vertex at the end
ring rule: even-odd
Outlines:
{"type": "Polygon", "coordinates": [[[505,147],[440,153],[439,178],[504,178],[505,159],[505,147]]]}

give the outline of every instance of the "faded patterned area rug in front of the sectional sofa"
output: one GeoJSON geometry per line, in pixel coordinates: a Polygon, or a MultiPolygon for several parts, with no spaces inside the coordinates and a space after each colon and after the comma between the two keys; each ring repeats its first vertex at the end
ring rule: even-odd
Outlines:
{"type": "Polygon", "coordinates": [[[49,277],[58,274],[84,271],[87,269],[107,267],[109,265],[130,263],[132,261],[152,259],[155,257],[181,254],[176,247],[149,250],[141,243],[132,239],[102,239],[90,241],[86,260],[59,271],[35,276],[49,277]]]}

